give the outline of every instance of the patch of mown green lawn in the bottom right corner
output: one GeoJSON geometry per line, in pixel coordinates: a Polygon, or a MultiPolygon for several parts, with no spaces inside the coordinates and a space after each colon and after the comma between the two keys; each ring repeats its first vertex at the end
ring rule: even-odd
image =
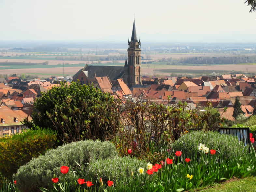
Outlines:
{"type": "Polygon", "coordinates": [[[188,192],[253,192],[256,191],[256,177],[247,177],[224,184],[214,184],[211,188],[201,187],[188,192]]]}

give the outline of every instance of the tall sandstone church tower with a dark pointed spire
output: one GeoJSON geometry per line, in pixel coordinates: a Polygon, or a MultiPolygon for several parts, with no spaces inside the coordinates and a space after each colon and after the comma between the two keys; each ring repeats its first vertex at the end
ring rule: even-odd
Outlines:
{"type": "Polygon", "coordinates": [[[133,32],[131,41],[128,39],[128,86],[141,85],[141,66],[140,66],[140,40],[138,41],[135,20],[133,21],[133,32]]]}

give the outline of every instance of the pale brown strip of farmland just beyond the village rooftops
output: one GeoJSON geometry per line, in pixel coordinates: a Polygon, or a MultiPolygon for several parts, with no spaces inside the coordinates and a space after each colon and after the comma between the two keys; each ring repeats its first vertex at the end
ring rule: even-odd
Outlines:
{"type": "MultiPolygon", "coordinates": [[[[103,64],[99,64],[101,66],[103,64]]],[[[108,64],[114,66],[123,66],[122,63],[108,64]]],[[[83,66],[65,66],[64,75],[74,75],[83,66]]],[[[231,71],[237,72],[251,72],[256,73],[256,65],[239,65],[239,64],[227,64],[227,65],[205,65],[205,66],[187,66],[187,65],[161,65],[161,64],[142,64],[142,75],[170,75],[170,73],[184,72],[186,74],[196,74],[200,71],[212,72],[225,72],[231,71]],[[190,71],[189,71],[190,70],[190,71]]],[[[0,74],[34,74],[38,76],[51,76],[62,74],[62,67],[45,66],[44,68],[21,68],[21,69],[0,69],[0,74]]]]}

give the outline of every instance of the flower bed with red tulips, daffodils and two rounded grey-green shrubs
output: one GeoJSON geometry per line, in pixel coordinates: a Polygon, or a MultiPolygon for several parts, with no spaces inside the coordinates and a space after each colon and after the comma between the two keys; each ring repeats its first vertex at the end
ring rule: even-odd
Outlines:
{"type": "MultiPolygon", "coordinates": [[[[129,157],[132,156],[133,149],[128,149],[127,157],[97,158],[90,161],[87,166],[60,166],[58,172],[55,172],[59,176],[52,174],[49,179],[51,187],[41,188],[41,191],[183,191],[220,182],[233,176],[241,178],[256,174],[254,153],[249,153],[248,147],[239,143],[235,137],[212,132],[195,132],[183,136],[176,142],[178,144],[186,137],[197,141],[200,135],[213,138],[214,141],[207,140],[196,145],[190,143],[190,150],[194,151],[193,156],[187,151],[186,147],[189,145],[184,145],[183,149],[181,147],[177,151],[168,150],[166,157],[153,165],[129,157]],[[218,143],[219,140],[216,138],[226,138],[226,141],[218,143]],[[227,145],[230,145],[226,144],[227,142],[234,145],[230,146],[231,149],[238,149],[232,153],[226,151],[230,150],[227,148],[227,145]],[[228,153],[228,156],[224,153],[228,153]]],[[[187,139],[187,142],[190,140],[187,139]]],[[[178,145],[174,143],[173,146],[178,145]]],[[[21,184],[17,182],[18,187],[19,185],[21,184]]]]}

